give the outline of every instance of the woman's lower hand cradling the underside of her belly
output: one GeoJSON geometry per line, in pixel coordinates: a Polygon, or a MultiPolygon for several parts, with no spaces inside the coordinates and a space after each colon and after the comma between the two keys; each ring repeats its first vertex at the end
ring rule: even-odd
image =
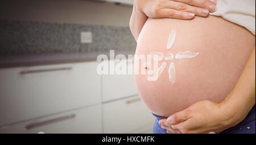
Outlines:
{"type": "Polygon", "coordinates": [[[167,119],[160,120],[159,124],[171,134],[209,133],[228,129],[228,119],[220,104],[200,101],[167,119]]]}

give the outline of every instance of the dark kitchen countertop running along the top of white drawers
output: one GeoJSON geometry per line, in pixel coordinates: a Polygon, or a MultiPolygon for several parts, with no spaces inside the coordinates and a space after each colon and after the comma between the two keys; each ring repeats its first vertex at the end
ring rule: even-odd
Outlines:
{"type": "MultiPolygon", "coordinates": [[[[104,54],[109,57],[109,51],[84,52],[84,53],[56,53],[45,55],[19,55],[0,56],[0,68],[30,67],[35,65],[79,63],[85,61],[97,61],[97,56],[104,54]]],[[[123,54],[134,55],[135,51],[115,51],[115,56],[123,54]]]]}

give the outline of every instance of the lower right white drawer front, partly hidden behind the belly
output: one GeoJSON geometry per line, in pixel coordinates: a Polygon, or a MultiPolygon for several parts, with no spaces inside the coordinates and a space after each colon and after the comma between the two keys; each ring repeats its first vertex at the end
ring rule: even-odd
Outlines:
{"type": "Polygon", "coordinates": [[[138,96],[103,105],[105,133],[140,133],[152,128],[154,117],[138,96]]]}

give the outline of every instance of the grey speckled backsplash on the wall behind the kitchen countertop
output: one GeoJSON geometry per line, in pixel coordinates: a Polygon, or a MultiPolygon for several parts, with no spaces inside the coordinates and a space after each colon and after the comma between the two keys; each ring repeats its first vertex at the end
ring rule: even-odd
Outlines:
{"type": "Polygon", "coordinates": [[[0,20],[0,56],[108,51],[134,51],[129,27],[0,20]],[[81,32],[92,32],[91,44],[81,43],[81,32]]]}

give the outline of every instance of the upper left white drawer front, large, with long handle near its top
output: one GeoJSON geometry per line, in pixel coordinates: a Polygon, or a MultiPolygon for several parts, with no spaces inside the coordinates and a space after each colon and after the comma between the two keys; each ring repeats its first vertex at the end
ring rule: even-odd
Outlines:
{"type": "Polygon", "coordinates": [[[0,69],[0,126],[100,103],[96,68],[90,62],[0,69]]]}

